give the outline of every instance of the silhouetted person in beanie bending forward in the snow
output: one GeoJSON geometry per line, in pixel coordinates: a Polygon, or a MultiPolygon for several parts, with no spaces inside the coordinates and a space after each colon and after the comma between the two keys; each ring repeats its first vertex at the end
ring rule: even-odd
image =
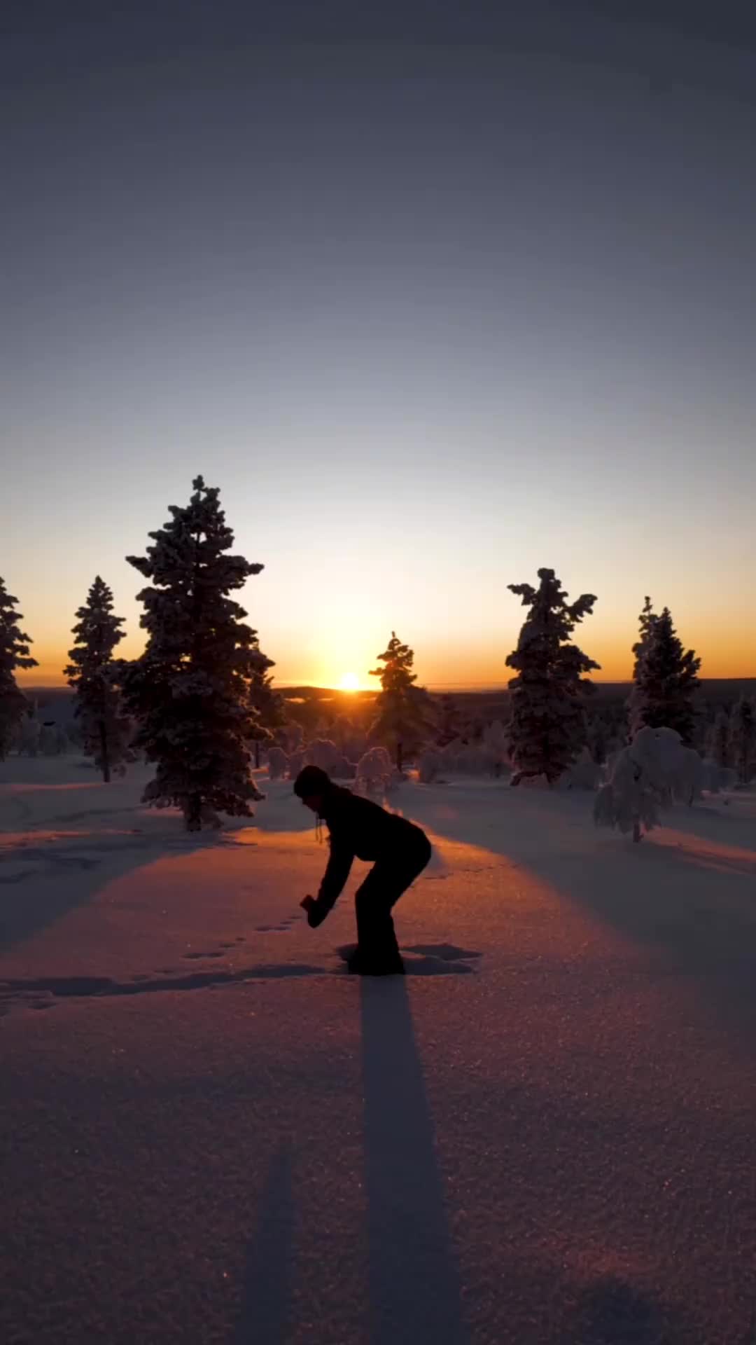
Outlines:
{"type": "Polygon", "coordinates": [[[305,765],[295,794],[328,827],[331,857],[317,897],[301,902],[312,928],[332,909],[350,876],[352,861],[373,861],[355,894],[356,948],[348,970],[363,976],[402,975],[391,909],[422,873],[430,842],[420,827],[344,790],[316,765],[305,765]]]}

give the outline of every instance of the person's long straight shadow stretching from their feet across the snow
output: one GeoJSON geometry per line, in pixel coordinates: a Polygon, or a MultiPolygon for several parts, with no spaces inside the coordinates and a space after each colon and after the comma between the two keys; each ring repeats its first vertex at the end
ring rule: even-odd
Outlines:
{"type": "Polygon", "coordinates": [[[465,1345],[406,983],[361,982],[370,1345],[465,1345]]]}

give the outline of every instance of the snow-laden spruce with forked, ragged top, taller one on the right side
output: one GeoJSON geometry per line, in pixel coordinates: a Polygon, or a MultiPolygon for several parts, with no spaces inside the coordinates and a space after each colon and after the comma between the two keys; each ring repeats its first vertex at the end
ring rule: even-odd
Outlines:
{"type": "Polygon", "coordinates": [[[537,589],[508,585],[530,608],[517,650],[507,658],[518,674],[510,682],[513,784],[535,775],[553,784],[577,759],[585,745],[584,698],[593,690],[582,674],[599,667],[569,643],[577,623],[593,612],[596,597],[582,593],[568,603],[553,570],[538,570],[538,578],[537,589]]]}

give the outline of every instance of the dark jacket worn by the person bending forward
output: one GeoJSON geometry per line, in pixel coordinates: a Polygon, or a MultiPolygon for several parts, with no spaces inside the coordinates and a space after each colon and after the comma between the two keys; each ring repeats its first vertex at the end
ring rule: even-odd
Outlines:
{"type": "Polygon", "coordinates": [[[352,861],[397,861],[428,845],[425,833],[406,818],[334,785],[326,795],[323,822],[331,839],[331,858],[323,874],[317,905],[324,917],[343,890],[352,861]]]}

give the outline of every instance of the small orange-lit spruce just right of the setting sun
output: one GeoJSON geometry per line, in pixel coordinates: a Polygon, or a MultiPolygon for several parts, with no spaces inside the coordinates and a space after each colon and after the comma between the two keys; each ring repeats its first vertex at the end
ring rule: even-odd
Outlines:
{"type": "Polygon", "coordinates": [[[432,734],[433,701],[424,687],[414,685],[414,651],[397,639],[395,631],[391,631],[378,662],[383,666],[370,671],[370,677],[381,678],[375,701],[378,714],[370,736],[393,749],[397,769],[401,771],[408,753],[417,752],[432,734]]]}

